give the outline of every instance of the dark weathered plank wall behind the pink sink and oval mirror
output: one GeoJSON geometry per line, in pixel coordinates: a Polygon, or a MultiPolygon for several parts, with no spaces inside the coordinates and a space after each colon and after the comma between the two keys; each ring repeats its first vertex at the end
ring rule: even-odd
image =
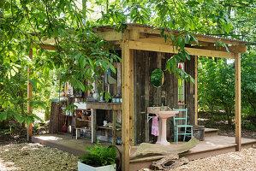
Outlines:
{"type": "MultiPolygon", "coordinates": [[[[177,79],[174,74],[165,70],[165,64],[173,54],[159,53],[145,50],[134,50],[134,127],[135,144],[156,141],[151,135],[151,123],[146,121],[146,108],[148,106],[168,105],[178,108],[177,104],[177,79]],[[160,88],[153,87],[150,76],[155,68],[164,71],[164,85],[160,88]]],[[[185,68],[193,76],[193,57],[185,62],[185,68]]],[[[189,119],[193,121],[193,84],[186,83],[186,103],[188,105],[189,119]]],[[[191,122],[190,123],[193,123],[191,122]]],[[[173,121],[167,121],[167,139],[172,140],[173,121]]]]}

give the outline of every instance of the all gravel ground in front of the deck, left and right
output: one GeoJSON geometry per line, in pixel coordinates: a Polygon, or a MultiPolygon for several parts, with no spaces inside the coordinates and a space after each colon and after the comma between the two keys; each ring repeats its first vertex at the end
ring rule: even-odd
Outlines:
{"type": "MultiPolygon", "coordinates": [[[[78,157],[41,144],[0,145],[0,170],[77,170],[78,157]]],[[[150,169],[141,169],[141,171],[150,169]]],[[[256,171],[256,149],[230,152],[189,162],[184,171],[249,170],[256,171]]]]}

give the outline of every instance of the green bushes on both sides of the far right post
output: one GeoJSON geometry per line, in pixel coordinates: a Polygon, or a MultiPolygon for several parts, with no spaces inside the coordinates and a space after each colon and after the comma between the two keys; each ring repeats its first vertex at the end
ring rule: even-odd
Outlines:
{"type": "MultiPolygon", "coordinates": [[[[256,62],[255,51],[241,55],[241,113],[251,120],[256,118],[256,62]]],[[[231,124],[235,113],[234,63],[225,59],[199,58],[199,106],[201,109],[224,109],[231,124]]],[[[251,122],[249,122],[251,124],[251,122]]],[[[247,123],[247,127],[251,127],[247,123]]]]}

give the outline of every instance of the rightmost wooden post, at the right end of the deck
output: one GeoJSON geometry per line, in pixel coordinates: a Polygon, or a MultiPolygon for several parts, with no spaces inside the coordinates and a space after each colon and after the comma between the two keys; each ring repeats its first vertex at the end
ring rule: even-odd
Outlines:
{"type": "Polygon", "coordinates": [[[235,53],[235,150],[241,150],[241,54],[235,53]]]}

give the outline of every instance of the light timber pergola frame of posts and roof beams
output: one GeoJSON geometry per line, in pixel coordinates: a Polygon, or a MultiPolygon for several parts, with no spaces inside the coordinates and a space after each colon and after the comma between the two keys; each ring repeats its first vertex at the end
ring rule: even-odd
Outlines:
{"type": "MultiPolygon", "coordinates": [[[[129,146],[134,145],[134,50],[147,50],[176,54],[178,51],[170,41],[165,41],[160,36],[161,30],[153,27],[128,24],[124,32],[116,32],[113,27],[99,27],[96,32],[101,38],[113,44],[120,44],[122,48],[122,170],[129,170],[129,146]]],[[[170,33],[165,31],[164,34],[170,33]]],[[[179,31],[171,32],[174,36],[179,31]]],[[[198,38],[198,44],[192,42],[186,44],[191,56],[195,56],[194,62],[194,124],[197,125],[198,104],[197,104],[197,81],[198,62],[197,56],[209,56],[235,59],[235,143],[236,150],[241,150],[241,53],[246,53],[247,42],[194,34],[198,38]],[[216,47],[217,41],[222,41],[229,47],[229,52],[225,48],[216,47]],[[192,45],[192,46],[191,46],[192,45]]],[[[53,50],[53,45],[39,44],[47,50],[53,50]]],[[[30,50],[30,57],[33,51],[30,50]]],[[[27,97],[32,98],[32,85],[28,82],[27,97]]],[[[28,112],[31,110],[28,104],[28,112]]],[[[31,125],[28,127],[28,139],[32,136],[31,125]]]]}

